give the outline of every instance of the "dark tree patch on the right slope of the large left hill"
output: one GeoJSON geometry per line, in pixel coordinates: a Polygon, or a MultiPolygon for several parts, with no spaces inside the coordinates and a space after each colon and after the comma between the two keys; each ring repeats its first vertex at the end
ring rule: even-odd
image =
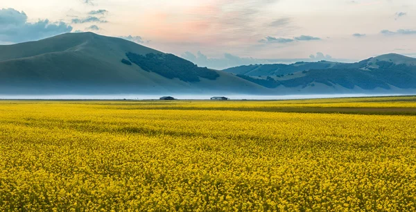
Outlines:
{"type": "Polygon", "coordinates": [[[144,71],[152,71],[169,79],[178,78],[184,82],[199,82],[200,78],[215,80],[219,77],[216,71],[196,64],[172,54],[148,53],[139,55],[126,53],[128,59],[144,71]]]}

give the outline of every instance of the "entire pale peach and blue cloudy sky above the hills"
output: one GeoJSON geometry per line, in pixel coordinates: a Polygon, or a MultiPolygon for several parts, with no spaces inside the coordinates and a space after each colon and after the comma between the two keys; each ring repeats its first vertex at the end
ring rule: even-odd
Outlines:
{"type": "Polygon", "coordinates": [[[202,67],[416,57],[415,0],[1,0],[0,44],[92,31],[202,67]]]}

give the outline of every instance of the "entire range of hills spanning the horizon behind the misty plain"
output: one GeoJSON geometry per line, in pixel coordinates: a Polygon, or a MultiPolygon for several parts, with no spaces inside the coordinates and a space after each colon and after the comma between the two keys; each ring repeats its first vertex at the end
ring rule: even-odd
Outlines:
{"type": "Polygon", "coordinates": [[[0,94],[412,93],[416,59],[253,64],[217,71],[94,33],[0,46],[0,94]]]}

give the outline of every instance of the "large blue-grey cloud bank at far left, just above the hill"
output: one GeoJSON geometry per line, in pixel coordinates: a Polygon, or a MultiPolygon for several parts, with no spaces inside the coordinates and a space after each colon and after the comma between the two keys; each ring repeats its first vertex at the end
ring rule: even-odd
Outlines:
{"type": "Polygon", "coordinates": [[[0,10],[0,42],[27,42],[62,33],[69,33],[72,26],[60,21],[51,22],[48,19],[33,23],[28,22],[26,13],[13,8],[0,10]]]}

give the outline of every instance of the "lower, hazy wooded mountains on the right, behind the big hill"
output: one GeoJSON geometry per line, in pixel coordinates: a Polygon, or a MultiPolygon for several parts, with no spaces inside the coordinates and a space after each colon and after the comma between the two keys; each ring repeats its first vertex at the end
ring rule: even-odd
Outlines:
{"type": "Polygon", "coordinates": [[[355,63],[256,64],[224,71],[263,87],[291,93],[416,91],[416,58],[393,53],[355,63]]]}

